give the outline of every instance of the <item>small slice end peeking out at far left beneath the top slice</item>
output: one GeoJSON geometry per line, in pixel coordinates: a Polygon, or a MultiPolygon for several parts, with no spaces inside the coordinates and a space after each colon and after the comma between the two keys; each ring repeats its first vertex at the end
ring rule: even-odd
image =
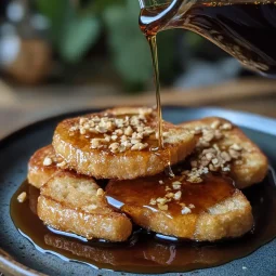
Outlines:
{"type": "Polygon", "coordinates": [[[38,149],[28,162],[28,182],[32,186],[40,188],[47,183],[55,172],[58,171],[58,158],[52,145],[38,149]]]}

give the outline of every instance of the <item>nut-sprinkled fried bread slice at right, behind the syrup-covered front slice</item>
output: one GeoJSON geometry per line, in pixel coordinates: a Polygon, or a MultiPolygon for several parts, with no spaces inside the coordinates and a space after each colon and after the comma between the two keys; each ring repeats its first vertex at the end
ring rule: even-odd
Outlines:
{"type": "Polygon", "coordinates": [[[183,122],[198,140],[192,157],[193,167],[228,173],[242,189],[261,182],[268,170],[262,150],[235,124],[219,117],[183,122]]]}

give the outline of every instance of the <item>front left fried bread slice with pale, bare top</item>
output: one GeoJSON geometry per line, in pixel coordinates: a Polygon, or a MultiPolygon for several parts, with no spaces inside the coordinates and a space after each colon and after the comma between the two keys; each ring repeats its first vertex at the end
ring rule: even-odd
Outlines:
{"type": "Polygon", "coordinates": [[[53,228],[91,238],[127,240],[131,221],[110,208],[104,190],[91,178],[57,172],[40,189],[37,212],[53,228]]]}

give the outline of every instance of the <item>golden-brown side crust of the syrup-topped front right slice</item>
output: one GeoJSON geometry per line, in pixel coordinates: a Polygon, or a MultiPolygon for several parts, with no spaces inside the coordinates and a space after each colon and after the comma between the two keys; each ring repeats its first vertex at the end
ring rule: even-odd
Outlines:
{"type": "Polygon", "coordinates": [[[168,211],[153,212],[149,208],[128,203],[121,210],[148,231],[198,241],[239,237],[253,226],[251,206],[239,190],[201,214],[171,218],[168,211]]]}

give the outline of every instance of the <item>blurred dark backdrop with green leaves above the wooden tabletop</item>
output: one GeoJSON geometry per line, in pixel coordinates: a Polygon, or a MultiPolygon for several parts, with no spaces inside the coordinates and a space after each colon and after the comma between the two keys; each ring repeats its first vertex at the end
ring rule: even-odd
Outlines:
{"type": "MultiPolygon", "coordinates": [[[[2,0],[1,5],[1,62],[9,81],[105,82],[127,93],[153,89],[137,0],[2,0]]],[[[189,88],[248,75],[190,31],[161,32],[158,45],[163,86],[189,88]]]]}

